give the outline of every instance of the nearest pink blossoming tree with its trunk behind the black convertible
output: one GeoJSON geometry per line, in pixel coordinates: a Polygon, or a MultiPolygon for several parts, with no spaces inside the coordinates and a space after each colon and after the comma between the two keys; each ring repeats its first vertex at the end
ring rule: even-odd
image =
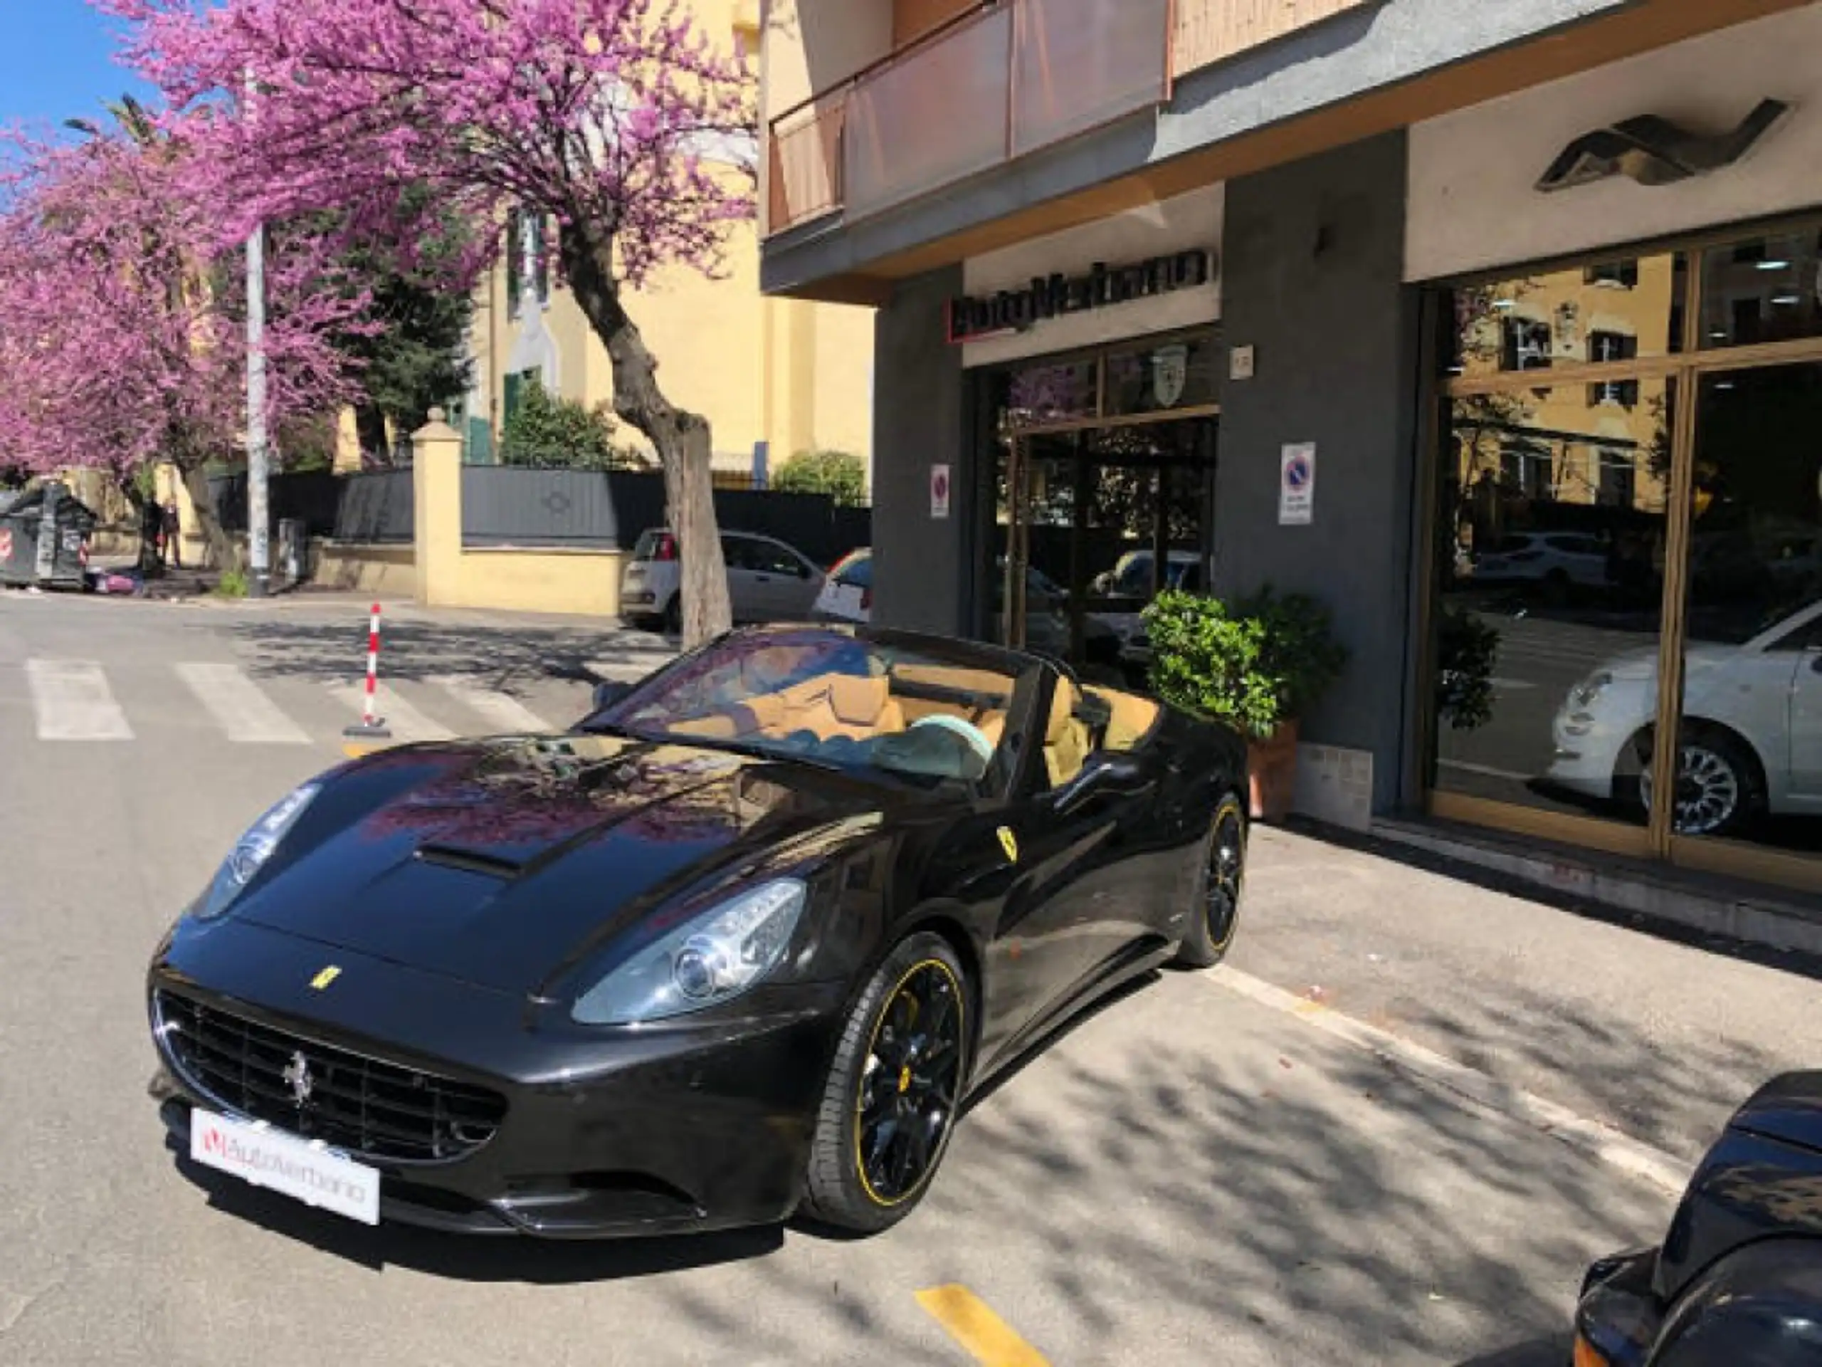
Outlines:
{"type": "MultiPolygon", "coordinates": [[[[665,472],[685,642],[725,629],[709,423],[665,396],[627,292],[665,266],[718,272],[731,228],[752,217],[742,62],[676,0],[95,4],[129,22],[128,60],[175,109],[217,111],[199,193],[226,222],[397,222],[410,184],[476,222],[547,215],[612,361],[614,410],[665,472]]],[[[477,239],[497,253],[501,233],[477,239]]],[[[486,261],[463,264],[452,288],[486,261]]]]}

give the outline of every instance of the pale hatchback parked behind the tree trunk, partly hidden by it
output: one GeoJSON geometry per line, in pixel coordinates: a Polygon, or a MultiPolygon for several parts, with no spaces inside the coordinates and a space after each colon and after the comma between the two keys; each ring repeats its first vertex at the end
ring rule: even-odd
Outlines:
{"type": "MultiPolygon", "coordinates": [[[[798,622],[822,592],[822,570],[774,536],[722,532],[722,558],[734,622],[798,622]]],[[[681,591],[676,536],[656,529],[640,536],[619,576],[619,616],[629,625],[660,625],[676,634],[683,625],[681,591]]]]}

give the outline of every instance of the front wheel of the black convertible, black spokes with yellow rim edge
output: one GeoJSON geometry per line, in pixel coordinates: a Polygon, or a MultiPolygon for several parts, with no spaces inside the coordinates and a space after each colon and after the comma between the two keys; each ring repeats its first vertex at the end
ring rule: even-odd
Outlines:
{"type": "Polygon", "coordinates": [[[885,955],[849,1008],[829,1066],[805,1214],[878,1234],[924,1199],[955,1132],[973,1055],[973,1008],[967,970],[940,935],[911,935],[885,955]]]}

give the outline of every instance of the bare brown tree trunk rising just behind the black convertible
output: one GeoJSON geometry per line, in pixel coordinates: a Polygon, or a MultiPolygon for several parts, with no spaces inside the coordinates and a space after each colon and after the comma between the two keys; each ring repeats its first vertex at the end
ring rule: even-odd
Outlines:
{"type": "Polygon", "coordinates": [[[658,388],[658,359],[621,306],[612,239],[587,224],[570,224],[561,250],[576,303],[614,365],[614,412],[658,450],[670,530],[683,561],[683,649],[701,645],[734,620],[714,519],[709,421],[674,406],[658,388]]]}

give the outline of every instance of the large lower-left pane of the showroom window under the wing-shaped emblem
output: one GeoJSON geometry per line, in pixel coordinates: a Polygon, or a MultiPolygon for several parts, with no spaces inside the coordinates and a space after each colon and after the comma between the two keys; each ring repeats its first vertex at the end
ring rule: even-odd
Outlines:
{"type": "Polygon", "coordinates": [[[1627,383],[1633,408],[1594,408],[1581,385],[1450,405],[1434,600],[1438,791],[1643,820],[1636,742],[1656,716],[1674,388],[1627,383]],[[1609,685],[1625,733],[1596,753],[1585,711],[1609,685]]]}

